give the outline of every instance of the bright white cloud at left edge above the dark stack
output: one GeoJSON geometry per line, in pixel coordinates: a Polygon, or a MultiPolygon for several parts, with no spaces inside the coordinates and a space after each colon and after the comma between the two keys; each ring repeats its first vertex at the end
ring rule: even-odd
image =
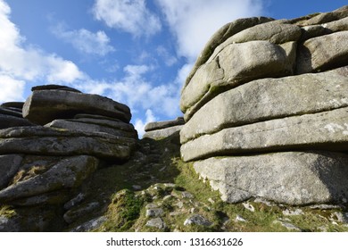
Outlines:
{"type": "Polygon", "coordinates": [[[26,46],[20,30],[10,21],[11,8],[0,0],[0,76],[7,101],[21,98],[27,81],[72,83],[86,79],[74,63],[56,54],[46,54],[34,46],[26,46]]]}

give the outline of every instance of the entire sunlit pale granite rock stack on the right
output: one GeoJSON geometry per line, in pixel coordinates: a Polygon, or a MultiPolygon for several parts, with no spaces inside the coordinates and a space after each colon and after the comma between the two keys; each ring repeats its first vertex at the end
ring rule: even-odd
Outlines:
{"type": "Polygon", "coordinates": [[[218,30],[186,80],[182,158],[229,203],[346,202],[348,6],[248,20],[218,30]]]}

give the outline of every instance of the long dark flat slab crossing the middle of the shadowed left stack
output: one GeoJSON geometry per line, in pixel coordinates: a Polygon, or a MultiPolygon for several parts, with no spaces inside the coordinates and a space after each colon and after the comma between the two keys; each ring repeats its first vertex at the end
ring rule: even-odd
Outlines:
{"type": "Polygon", "coordinates": [[[135,145],[134,139],[106,133],[43,127],[0,130],[0,154],[87,154],[106,159],[127,160],[135,145]]]}

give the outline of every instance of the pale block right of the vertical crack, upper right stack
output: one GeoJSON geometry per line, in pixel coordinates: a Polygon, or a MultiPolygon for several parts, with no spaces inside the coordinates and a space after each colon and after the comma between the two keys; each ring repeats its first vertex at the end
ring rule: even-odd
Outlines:
{"type": "Polygon", "coordinates": [[[300,46],[296,73],[326,71],[348,64],[348,31],[314,37],[300,46]]]}

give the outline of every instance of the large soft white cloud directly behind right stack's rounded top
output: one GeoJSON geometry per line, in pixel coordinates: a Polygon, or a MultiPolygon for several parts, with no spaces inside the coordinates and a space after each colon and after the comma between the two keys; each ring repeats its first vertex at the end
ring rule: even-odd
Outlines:
{"type": "Polygon", "coordinates": [[[189,63],[211,35],[229,21],[260,15],[261,0],[156,0],[162,8],[170,29],[177,37],[178,54],[189,63]]]}

